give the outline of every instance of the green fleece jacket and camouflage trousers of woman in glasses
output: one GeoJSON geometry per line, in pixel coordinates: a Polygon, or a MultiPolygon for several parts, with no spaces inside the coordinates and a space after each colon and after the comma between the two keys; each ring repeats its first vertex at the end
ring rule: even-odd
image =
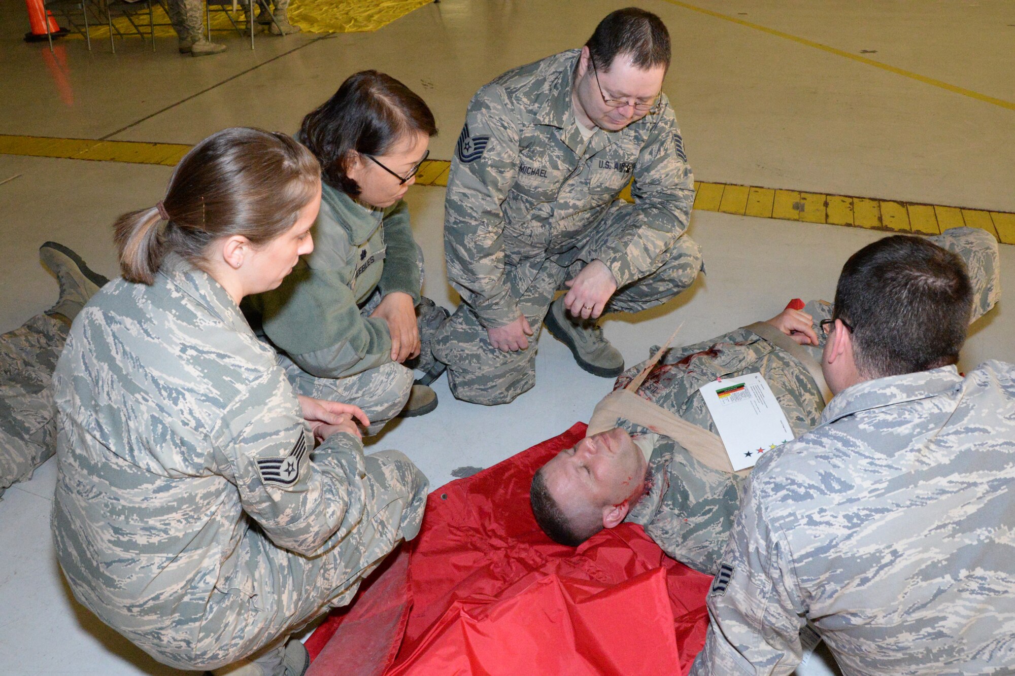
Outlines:
{"type": "Polygon", "coordinates": [[[412,368],[434,363],[430,339],[448,313],[420,295],[422,252],[404,201],[370,209],[322,187],[314,251],[273,290],[244,299],[251,325],[280,352],[299,394],[363,409],[376,432],[402,410],[412,368]],[[405,365],[391,360],[388,323],[371,318],[385,294],[416,303],[421,349],[405,365]]]}

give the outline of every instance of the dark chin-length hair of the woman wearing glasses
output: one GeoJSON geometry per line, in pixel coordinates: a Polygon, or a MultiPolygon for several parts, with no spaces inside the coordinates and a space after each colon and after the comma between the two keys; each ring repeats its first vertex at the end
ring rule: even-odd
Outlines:
{"type": "Polygon", "coordinates": [[[356,197],[359,186],[349,178],[353,152],[383,155],[407,135],[436,133],[433,114],[416,92],[391,75],[363,70],[307,114],[299,140],[321,161],[324,182],[356,197]]]}

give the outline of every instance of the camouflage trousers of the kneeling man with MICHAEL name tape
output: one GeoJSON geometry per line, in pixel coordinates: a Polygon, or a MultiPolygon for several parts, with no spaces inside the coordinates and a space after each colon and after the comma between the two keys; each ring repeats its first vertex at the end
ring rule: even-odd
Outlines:
{"type": "MultiPolygon", "coordinates": [[[[597,251],[609,232],[593,235],[583,251],[597,251]]],[[[458,399],[475,404],[506,404],[536,384],[536,351],[543,318],[563,282],[586,266],[582,251],[546,258],[532,272],[533,265],[509,266],[505,270],[519,308],[535,331],[529,347],[504,352],[490,345],[486,328],[466,303],[445,322],[433,338],[434,356],[448,364],[448,385],[458,399]],[[529,279],[531,278],[531,281],[529,279]]],[[[666,302],[690,286],[701,270],[697,244],[681,236],[656,260],[649,275],[617,289],[604,311],[636,313],[666,302]]]]}

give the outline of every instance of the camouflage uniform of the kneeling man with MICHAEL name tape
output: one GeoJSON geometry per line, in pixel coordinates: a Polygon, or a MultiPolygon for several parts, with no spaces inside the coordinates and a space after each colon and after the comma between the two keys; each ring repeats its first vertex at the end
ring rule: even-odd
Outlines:
{"type": "Polygon", "coordinates": [[[605,312],[665,302],[701,268],[683,234],[694,180],[665,94],[657,113],[583,139],[571,104],[580,51],[504,73],[472,98],[452,159],[448,277],[462,305],[434,338],[459,399],[506,403],[535,384],[536,340],[554,293],[594,260],[613,272],[605,312]],[[618,201],[633,177],[634,204],[618,201]],[[524,315],[537,335],[518,352],[488,328],[524,315]]]}

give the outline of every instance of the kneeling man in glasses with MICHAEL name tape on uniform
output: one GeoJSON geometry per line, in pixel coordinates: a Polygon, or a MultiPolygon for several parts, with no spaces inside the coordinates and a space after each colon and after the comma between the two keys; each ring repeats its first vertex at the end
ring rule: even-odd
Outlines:
{"type": "Polygon", "coordinates": [[[509,71],[472,98],[445,220],[462,305],[433,343],[459,399],[502,404],[532,388],[544,318],[584,369],[616,377],[623,357],[596,320],[694,281],[701,257],[683,234],[694,182],[662,92],[669,65],[666,26],[628,7],[581,50],[509,71]],[[632,179],[627,204],[618,197],[632,179]]]}

